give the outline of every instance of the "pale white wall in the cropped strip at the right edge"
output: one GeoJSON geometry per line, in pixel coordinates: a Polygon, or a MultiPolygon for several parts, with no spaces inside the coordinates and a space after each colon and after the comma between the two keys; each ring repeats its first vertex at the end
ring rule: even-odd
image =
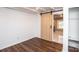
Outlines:
{"type": "Polygon", "coordinates": [[[69,38],[79,41],[79,8],[69,9],[69,38]]]}

